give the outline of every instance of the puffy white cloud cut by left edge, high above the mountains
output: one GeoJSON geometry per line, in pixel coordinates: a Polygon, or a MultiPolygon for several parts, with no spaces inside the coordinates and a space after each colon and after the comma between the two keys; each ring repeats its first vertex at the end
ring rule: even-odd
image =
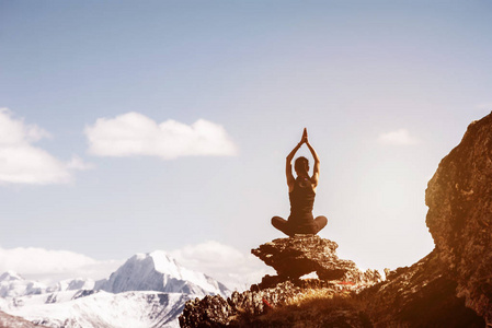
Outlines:
{"type": "Polygon", "coordinates": [[[13,118],[12,112],[0,108],[0,183],[60,184],[71,180],[70,169],[79,169],[72,162],[64,163],[32,143],[49,133],[23,119],[13,118]]]}

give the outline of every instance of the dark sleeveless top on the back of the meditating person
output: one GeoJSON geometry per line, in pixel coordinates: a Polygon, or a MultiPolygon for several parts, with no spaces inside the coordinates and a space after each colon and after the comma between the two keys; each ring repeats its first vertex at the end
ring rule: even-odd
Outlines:
{"type": "Polygon", "coordinates": [[[297,177],[294,189],[288,194],[290,200],[290,216],[288,221],[296,225],[312,223],[312,207],[316,192],[308,177],[297,177]]]}

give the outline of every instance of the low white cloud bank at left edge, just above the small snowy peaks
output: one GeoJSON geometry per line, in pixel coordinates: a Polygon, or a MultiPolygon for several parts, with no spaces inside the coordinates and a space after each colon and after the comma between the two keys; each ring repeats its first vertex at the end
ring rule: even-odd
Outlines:
{"type": "Polygon", "coordinates": [[[0,248],[0,273],[12,270],[25,279],[53,283],[69,278],[108,278],[123,261],[98,261],[68,250],[34,247],[0,248]]]}

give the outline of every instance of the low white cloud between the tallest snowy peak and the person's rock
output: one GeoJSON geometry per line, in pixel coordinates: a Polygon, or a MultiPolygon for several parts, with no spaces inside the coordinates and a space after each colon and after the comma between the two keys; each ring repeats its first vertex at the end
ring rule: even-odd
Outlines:
{"type": "Polygon", "coordinates": [[[169,251],[183,267],[204,272],[230,289],[244,290],[276,274],[255,256],[214,241],[169,251]]]}

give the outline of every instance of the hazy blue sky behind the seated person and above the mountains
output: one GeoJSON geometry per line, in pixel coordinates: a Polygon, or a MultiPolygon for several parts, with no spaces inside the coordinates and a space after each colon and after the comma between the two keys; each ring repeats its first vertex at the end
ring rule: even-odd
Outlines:
{"type": "Polygon", "coordinates": [[[320,235],[365,268],[410,265],[433,247],[427,180],[492,110],[491,32],[490,1],[2,1],[0,128],[22,128],[0,133],[0,247],[245,256],[282,237],[307,127],[320,235]],[[125,118],[91,151],[98,120],[125,118]],[[19,162],[30,181],[5,164],[21,151],[47,161],[19,162]]]}

